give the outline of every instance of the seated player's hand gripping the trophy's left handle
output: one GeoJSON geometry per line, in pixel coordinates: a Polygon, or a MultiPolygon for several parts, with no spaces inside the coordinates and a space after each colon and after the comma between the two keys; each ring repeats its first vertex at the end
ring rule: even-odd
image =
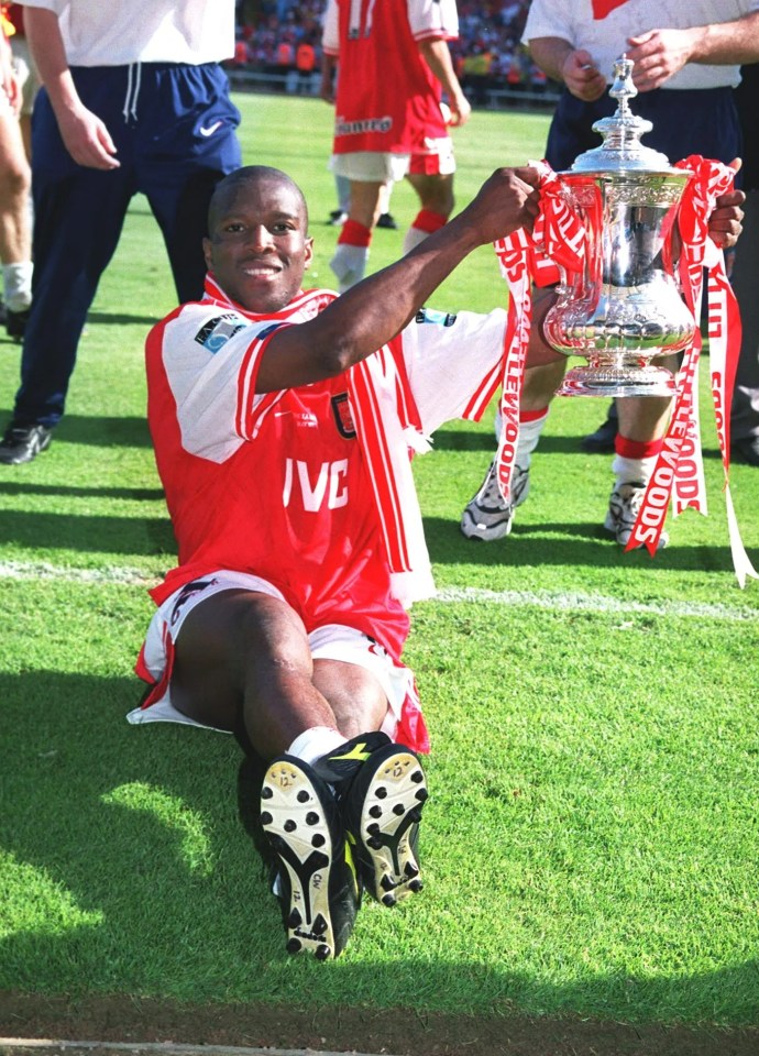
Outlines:
{"type": "Polygon", "coordinates": [[[535,168],[498,168],[466,207],[466,222],[481,244],[496,242],[518,228],[532,229],[540,209],[540,177],[535,168]]]}

